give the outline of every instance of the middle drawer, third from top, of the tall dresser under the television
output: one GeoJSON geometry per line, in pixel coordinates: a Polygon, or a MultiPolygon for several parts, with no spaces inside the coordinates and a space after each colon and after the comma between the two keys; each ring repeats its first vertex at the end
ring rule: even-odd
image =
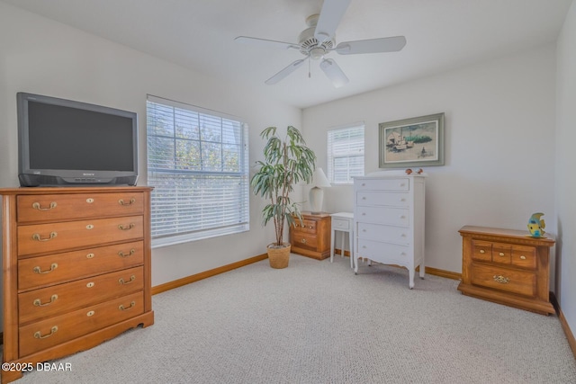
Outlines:
{"type": "Polygon", "coordinates": [[[135,241],[18,260],[18,290],[31,290],[144,263],[144,243],[135,241]]]}

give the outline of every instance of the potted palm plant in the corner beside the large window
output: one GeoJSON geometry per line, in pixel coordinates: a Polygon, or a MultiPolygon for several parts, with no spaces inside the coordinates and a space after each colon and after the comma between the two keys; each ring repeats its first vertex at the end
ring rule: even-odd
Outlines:
{"type": "Polygon", "coordinates": [[[284,224],[292,226],[296,219],[302,222],[302,214],[290,193],[295,183],[310,183],[316,166],[316,155],[306,147],[298,129],[289,126],[284,138],[278,136],[276,127],[268,127],[260,133],[266,140],[264,160],[257,161],[257,173],[250,184],[254,193],[268,203],[262,210],[264,225],[274,222],[275,243],[267,246],[268,259],[273,268],[285,268],[290,260],[290,243],[284,243],[284,224]]]}

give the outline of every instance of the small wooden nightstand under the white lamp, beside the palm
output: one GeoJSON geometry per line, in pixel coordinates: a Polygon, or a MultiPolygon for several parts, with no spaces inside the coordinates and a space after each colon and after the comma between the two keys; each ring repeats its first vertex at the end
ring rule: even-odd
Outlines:
{"type": "Polygon", "coordinates": [[[319,260],[329,257],[330,214],[302,212],[302,224],[299,219],[295,220],[295,227],[290,228],[291,252],[319,260]]]}

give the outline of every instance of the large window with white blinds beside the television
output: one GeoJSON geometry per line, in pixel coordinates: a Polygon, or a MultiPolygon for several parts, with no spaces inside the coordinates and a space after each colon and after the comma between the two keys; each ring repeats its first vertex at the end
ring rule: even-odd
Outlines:
{"type": "Polygon", "coordinates": [[[247,124],[150,95],[146,110],[153,246],[248,230],[247,124]]]}

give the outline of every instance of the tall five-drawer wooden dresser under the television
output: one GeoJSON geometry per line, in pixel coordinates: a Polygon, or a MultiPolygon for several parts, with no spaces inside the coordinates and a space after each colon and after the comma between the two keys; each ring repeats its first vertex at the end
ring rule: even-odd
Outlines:
{"type": "MultiPolygon", "coordinates": [[[[45,362],[150,326],[148,187],[0,189],[4,362],[45,362]]],[[[25,370],[24,370],[25,371],[25,370]]]]}

